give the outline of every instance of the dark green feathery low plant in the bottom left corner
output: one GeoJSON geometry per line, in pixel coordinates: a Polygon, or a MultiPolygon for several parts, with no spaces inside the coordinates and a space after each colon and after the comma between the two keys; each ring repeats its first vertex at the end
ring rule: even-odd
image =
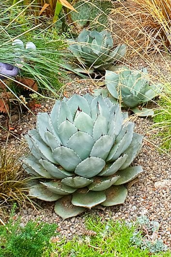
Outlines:
{"type": "Polygon", "coordinates": [[[56,233],[56,224],[29,221],[21,225],[10,218],[0,226],[0,257],[42,257],[56,233]]]}

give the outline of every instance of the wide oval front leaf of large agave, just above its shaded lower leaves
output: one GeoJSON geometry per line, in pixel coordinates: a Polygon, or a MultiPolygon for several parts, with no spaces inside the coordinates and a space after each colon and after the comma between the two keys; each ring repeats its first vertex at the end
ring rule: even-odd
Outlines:
{"type": "Polygon", "coordinates": [[[104,167],[105,161],[103,159],[89,157],[78,164],[75,173],[85,178],[91,178],[100,173],[104,167]]]}

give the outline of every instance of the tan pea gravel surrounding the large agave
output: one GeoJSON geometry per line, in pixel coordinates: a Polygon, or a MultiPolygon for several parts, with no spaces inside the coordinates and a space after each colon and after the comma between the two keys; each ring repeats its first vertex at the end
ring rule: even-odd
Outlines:
{"type": "MultiPolygon", "coordinates": [[[[87,91],[92,92],[97,86],[92,81],[75,81],[65,87],[65,93],[69,96],[74,93],[84,94],[87,91]],[[74,88],[74,89],[73,89],[74,88]]],[[[44,100],[41,108],[35,109],[37,112],[50,111],[54,102],[44,100]]],[[[151,220],[160,223],[160,236],[165,243],[171,246],[171,156],[161,154],[154,145],[159,146],[160,138],[154,137],[156,132],[151,132],[153,121],[148,118],[137,118],[135,120],[135,131],[144,135],[143,147],[135,163],[142,165],[144,172],[139,176],[139,180],[128,190],[128,196],[121,206],[108,207],[104,211],[93,209],[87,211],[85,215],[73,217],[62,221],[54,212],[54,203],[42,202],[43,209],[35,210],[31,207],[25,207],[16,213],[16,217],[21,216],[21,225],[35,220],[48,223],[58,223],[58,231],[61,236],[71,239],[75,234],[85,234],[85,216],[95,214],[102,217],[102,220],[123,219],[126,221],[136,220],[142,214],[146,214],[151,220]]],[[[19,138],[10,139],[9,149],[21,150],[22,153],[28,151],[24,134],[29,129],[35,127],[36,118],[28,114],[23,116],[17,125],[17,130],[21,132],[19,138]]]]}

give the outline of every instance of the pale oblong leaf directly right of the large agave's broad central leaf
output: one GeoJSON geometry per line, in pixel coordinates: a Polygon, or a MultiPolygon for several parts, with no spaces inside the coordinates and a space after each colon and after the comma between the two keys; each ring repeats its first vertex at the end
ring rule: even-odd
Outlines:
{"type": "Polygon", "coordinates": [[[105,135],[100,137],[93,145],[90,156],[99,157],[105,160],[113,145],[112,137],[105,135]]]}

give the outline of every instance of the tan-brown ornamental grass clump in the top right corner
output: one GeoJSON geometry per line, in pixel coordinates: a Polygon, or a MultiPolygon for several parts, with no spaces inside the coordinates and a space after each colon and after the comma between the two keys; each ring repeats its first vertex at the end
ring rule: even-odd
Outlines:
{"type": "Polygon", "coordinates": [[[124,41],[143,51],[171,48],[171,0],[125,0],[119,14],[124,41]]]}

